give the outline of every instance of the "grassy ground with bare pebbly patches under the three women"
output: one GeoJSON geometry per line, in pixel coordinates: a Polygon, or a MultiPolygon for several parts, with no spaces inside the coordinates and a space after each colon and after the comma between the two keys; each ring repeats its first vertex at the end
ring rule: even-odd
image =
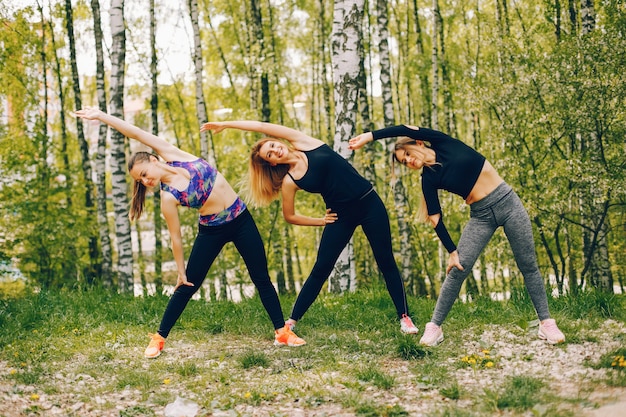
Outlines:
{"type": "MultiPolygon", "coordinates": [[[[1,292],[0,292],[1,293],[1,292]]],[[[0,300],[0,416],[580,416],[626,393],[626,298],[550,300],[550,346],[520,292],[457,303],[437,348],[400,333],[382,288],[322,294],[275,348],[257,298],[192,301],[163,354],[143,358],[167,303],[100,291],[0,300]],[[621,361],[620,361],[620,356],[621,361]]],[[[282,297],[285,314],[293,299],[282,297]]],[[[434,302],[410,298],[423,330],[434,302]]]]}

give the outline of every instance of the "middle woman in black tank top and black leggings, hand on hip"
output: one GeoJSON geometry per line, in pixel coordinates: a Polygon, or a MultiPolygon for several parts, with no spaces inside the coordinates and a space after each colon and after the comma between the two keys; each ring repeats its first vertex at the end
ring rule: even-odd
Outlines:
{"type": "Polygon", "coordinates": [[[417,333],[409,317],[404,284],[393,257],[389,217],[372,185],[341,155],[319,139],[271,123],[255,121],[209,122],[201,130],[220,132],[235,128],[259,132],[272,138],[257,142],[250,156],[250,191],[259,205],[282,195],[283,216],[292,224],[324,226],[317,259],[302,286],[287,323],[295,325],[313,304],[343,248],[357,226],[367,236],[404,333],[417,333]],[[280,138],[288,141],[285,144],[280,138]],[[298,190],[321,194],[326,203],[323,217],[303,216],[295,211],[298,190]]]}

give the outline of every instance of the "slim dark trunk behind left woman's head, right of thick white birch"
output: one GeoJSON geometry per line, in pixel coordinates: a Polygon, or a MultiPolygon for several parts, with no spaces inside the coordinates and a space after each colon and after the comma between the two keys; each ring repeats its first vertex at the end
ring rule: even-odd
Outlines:
{"type": "MultiPolygon", "coordinates": [[[[150,0],[150,111],[152,116],[152,134],[159,136],[159,88],[157,84],[157,51],[156,51],[156,16],[154,10],[154,0],[150,0]]],[[[155,293],[163,293],[163,237],[161,233],[161,193],[153,193],[154,211],[154,286],[155,293]]]]}

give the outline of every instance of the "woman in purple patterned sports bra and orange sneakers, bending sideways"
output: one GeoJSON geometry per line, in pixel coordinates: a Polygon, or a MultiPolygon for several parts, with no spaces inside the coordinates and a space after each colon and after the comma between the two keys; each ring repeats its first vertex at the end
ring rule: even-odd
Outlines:
{"type": "Polygon", "coordinates": [[[193,294],[202,286],[213,261],[228,242],[234,243],[246,263],[250,278],[274,325],[274,344],[304,345],[305,341],[285,324],[278,295],[270,281],[265,248],[256,223],[224,176],[207,161],[99,109],[86,108],[78,110],[75,115],[106,123],[124,136],[151,147],[165,161],[148,152],[137,152],[128,162],[128,171],[134,180],[130,218],[136,220],[141,216],[147,188],[160,186],[161,212],[170,233],[178,269],[174,293],[158,332],[151,335],[145,356],[156,358],[161,354],[170,330],[193,294]],[[180,205],[199,212],[198,234],[186,266],[178,218],[180,205]]]}

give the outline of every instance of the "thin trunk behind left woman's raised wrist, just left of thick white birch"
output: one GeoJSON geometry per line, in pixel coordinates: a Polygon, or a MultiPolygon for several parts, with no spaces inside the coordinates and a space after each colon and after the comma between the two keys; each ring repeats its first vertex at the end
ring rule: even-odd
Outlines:
{"type": "MultiPolygon", "coordinates": [[[[104,53],[102,50],[102,22],[100,18],[100,1],[91,0],[94,37],[96,41],[96,94],[98,107],[107,112],[106,90],[104,85],[104,53]]],[[[98,220],[98,237],[102,262],[100,265],[100,281],[105,287],[113,286],[113,249],[109,235],[109,221],[106,206],[106,139],[107,125],[100,123],[98,130],[98,152],[95,158],[96,168],[96,208],[98,220]]]]}

